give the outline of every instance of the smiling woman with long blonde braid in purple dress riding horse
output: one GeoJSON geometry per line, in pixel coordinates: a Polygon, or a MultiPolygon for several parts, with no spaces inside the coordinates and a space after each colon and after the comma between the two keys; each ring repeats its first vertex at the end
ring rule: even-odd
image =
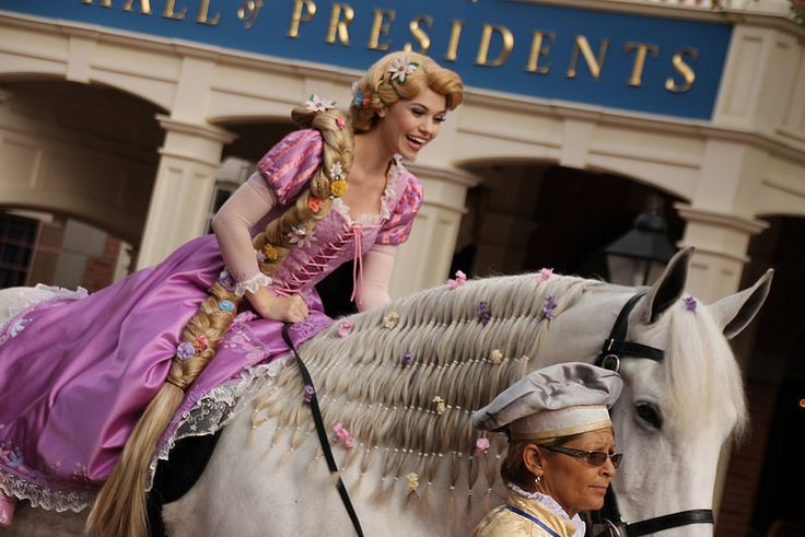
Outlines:
{"type": "Polygon", "coordinates": [[[314,285],[342,262],[355,262],[359,308],[388,302],[396,246],[422,203],[400,156],[415,160],[462,96],[453,71],[387,55],[357,82],[349,115],[315,95],[293,110],[302,130],[224,205],[215,236],[10,319],[0,334],[7,518],[11,498],[80,511],[106,481],[91,532],[143,535],[154,452],[172,442],[176,416],[287,354],[283,323],[296,345],[329,326],[314,285]]]}

